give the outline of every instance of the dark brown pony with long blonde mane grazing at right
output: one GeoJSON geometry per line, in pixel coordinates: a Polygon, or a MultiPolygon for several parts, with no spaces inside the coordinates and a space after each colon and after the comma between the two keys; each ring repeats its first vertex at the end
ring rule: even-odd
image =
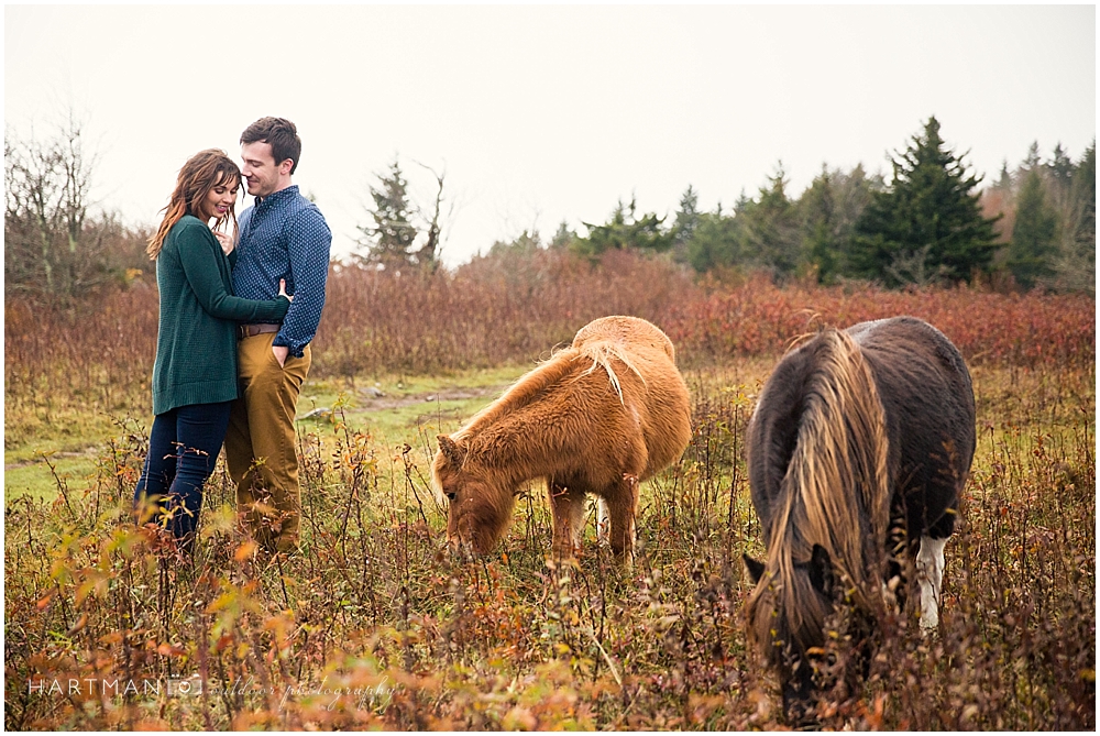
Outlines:
{"type": "Polygon", "coordinates": [[[974,448],[970,374],[927,322],[826,329],[776,366],[748,428],[768,553],[746,556],[757,583],[746,618],[778,669],[788,717],[812,712],[807,656],[825,642],[834,602],[847,595],[856,620],[873,626],[902,570],[898,552],[915,562],[922,630],[938,625],[944,545],[974,448]]]}

